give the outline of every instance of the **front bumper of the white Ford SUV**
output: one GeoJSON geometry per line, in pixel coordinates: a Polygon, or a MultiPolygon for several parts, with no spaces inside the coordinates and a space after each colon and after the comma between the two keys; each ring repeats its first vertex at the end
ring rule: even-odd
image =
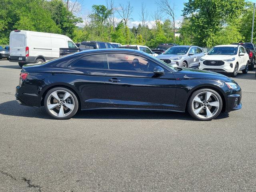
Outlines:
{"type": "Polygon", "coordinates": [[[199,69],[200,70],[207,70],[207,71],[214,71],[214,72],[224,72],[224,73],[232,73],[234,72],[236,62],[224,62],[221,66],[212,66],[212,65],[205,65],[202,61],[199,62],[199,69]],[[230,64],[233,66],[231,67],[230,64]]]}

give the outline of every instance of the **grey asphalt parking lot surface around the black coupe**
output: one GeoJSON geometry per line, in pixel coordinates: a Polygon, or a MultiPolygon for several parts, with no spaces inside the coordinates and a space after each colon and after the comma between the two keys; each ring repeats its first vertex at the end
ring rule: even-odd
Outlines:
{"type": "Polygon", "coordinates": [[[20,68],[0,60],[0,191],[256,191],[255,71],[234,78],[242,110],[79,112],[53,120],[15,101],[20,68]]]}

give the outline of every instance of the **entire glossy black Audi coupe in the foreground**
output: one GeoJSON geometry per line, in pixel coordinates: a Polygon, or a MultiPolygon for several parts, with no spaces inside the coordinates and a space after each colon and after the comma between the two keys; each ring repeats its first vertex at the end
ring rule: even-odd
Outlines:
{"type": "Polygon", "coordinates": [[[174,68],[130,49],[86,50],[42,64],[26,64],[16,100],[44,106],[56,119],[80,110],[126,109],[185,112],[212,120],[242,108],[242,91],[215,72],[174,68]]]}

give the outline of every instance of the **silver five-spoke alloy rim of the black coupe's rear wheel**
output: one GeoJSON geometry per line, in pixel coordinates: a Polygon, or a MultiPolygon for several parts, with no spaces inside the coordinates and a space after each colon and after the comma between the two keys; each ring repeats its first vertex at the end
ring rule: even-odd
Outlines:
{"type": "Polygon", "coordinates": [[[47,108],[54,116],[68,116],[74,110],[74,107],[73,96],[64,90],[54,91],[47,98],[47,108]]]}

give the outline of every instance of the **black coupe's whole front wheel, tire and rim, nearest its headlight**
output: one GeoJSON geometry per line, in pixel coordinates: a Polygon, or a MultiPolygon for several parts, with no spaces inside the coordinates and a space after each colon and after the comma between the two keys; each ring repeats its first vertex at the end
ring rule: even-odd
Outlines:
{"type": "Polygon", "coordinates": [[[222,110],[222,98],[220,94],[212,89],[197,90],[191,95],[187,110],[197,120],[212,120],[222,110]]]}

